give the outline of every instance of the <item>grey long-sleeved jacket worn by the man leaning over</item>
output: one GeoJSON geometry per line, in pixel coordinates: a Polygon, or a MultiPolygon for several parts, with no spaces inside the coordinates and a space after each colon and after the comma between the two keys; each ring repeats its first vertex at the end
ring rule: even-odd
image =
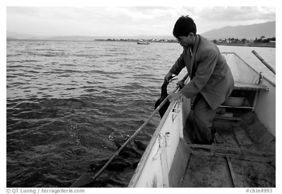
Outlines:
{"type": "Polygon", "coordinates": [[[231,94],[234,79],[230,67],[211,41],[197,35],[192,56],[189,48],[184,49],[169,71],[178,75],[184,67],[191,79],[181,90],[185,97],[200,93],[215,110],[231,94]]]}

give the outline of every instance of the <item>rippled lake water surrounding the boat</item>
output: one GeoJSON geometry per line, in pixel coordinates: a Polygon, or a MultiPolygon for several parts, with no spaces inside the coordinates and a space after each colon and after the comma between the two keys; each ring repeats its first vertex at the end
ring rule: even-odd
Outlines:
{"type": "MultiPolygon", "coordinates": [[[[275,48],[219,49],[236,52],[275,82],[251,52],[275,68],[275,48]]],[[[7,41],[7,187],[70,187],[99,170],[119,139],[154,111],[164,75],[181,52],[173,43],[7,41]]],[[[159,121],[155,116],[89,186],[126,187],[159,121]]]]}

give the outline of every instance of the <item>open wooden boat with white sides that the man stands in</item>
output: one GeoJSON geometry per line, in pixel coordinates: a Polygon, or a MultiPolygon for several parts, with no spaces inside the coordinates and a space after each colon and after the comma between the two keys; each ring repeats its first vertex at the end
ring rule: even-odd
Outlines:
{"type": "Polygon", "coordinates": [[[128,187],[275,187],[275,83],[222,54],[243,104],[221,105],[214,143],[195,145],[190,99],[170,103],[128,187]]]}

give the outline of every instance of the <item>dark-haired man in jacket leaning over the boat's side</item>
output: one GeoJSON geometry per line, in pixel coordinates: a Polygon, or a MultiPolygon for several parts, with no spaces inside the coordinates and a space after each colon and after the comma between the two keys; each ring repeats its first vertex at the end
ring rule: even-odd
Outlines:
{"type": "MultiPolygon", "coordinates": [[[[178,75],[186,67],[190,82],[169,100],[193,97],[191,112],[196,135],[196,144],[212,144],[211,127],[217,107],[231,94],[233,75],[219,49],[211,41],[196,34],[196,24],[188,16],[180,17],[173,35],[183,47],[183,53],[164,76],[178,75]]],[[[213,131],[214,133],[214,131],[213,131]]]]}

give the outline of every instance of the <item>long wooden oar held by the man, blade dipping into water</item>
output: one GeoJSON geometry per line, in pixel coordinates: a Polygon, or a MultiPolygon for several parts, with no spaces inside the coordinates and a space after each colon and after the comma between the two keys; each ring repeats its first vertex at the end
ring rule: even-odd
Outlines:
{"type": "MultiPolygon", "coordinates": [[[[184,76],[182,79],[185,81],[188,78],[188,73],[184,76]]],[[[179,88],[179,85],[177,85],[174,90],[171,92],[171,94],[175,93],[177,89],[179,88]]],[[[92,181],[94,181],[107,167],[108,165],[118,156],[119,152],[126,146],[128,145],[140,132],[141,130],[153,119],[153,117],[158,113],[158,111],[163,107],[164,103],[167,101],[168,97],[171,96],[169,94],[166,98],[164,98],[163,102],[156,108],[156,110],[151,114],[149,119],[145,121],[141,127],[116,151],[116,153],[110,158],[110,160],[102,167],[101,170],[99,170],[94,176],[90,177],[89,174],[84,174],[82,175],[76,182],[74,182],[71,187],[81,187],[83,185],[89,184],[92,181]],[[83,180],[84,179],[84,180],[83,180]]]]}

